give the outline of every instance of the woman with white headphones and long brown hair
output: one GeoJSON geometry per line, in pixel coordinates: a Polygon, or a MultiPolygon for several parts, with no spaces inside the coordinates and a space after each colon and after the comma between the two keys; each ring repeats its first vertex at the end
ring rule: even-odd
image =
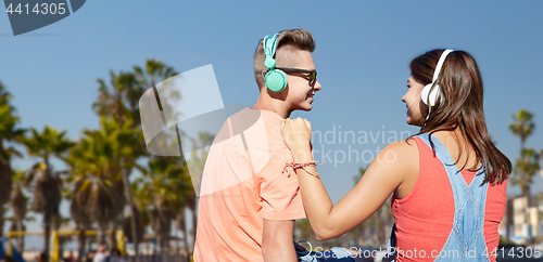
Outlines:
{"type": "Polygon", "coordinates": [[[495,261],[512,163],[487,130],[475,60],[452,50],[416,57],[402,101],[420,132],[383,148],[337,205],[315,169],[311,123],[281,123],[317,239],[352,230],[393,194],[395,261],[495,261]]]}

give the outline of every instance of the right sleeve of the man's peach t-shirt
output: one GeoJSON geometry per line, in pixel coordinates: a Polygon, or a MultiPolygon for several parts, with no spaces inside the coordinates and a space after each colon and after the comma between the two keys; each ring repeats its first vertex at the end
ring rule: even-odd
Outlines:
{"type": "Polygon", "coordinates": [[[260,173],[262,218],[267,220],[296,220],[305,218],[298,176],[292,168],[285,170],[292,160],[288,148],[274,154],[260,173]],[[285,170],[285,172],[283,172],[285,170]]]}

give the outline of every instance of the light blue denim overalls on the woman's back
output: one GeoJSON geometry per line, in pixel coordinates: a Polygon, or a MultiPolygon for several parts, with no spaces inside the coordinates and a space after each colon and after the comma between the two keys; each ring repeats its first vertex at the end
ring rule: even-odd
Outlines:
{"type": "MultiPolygon", "coordinates": [[[[431,148],[429,136],[428,133],[417,135],[431,148]]],[[[480,186],[485,174],[481,169],[471,184],[467,185],[446,147],[435,136],[432,137],[432,142],[435,155],[445,168],[454,196],[453,230],[434,261],[490,261],[489,256],[492,254],[492,250],[487,250],[483,233],[489,183],[480,186]]],[[[395,224],[389,240],[390,247],[396,247],[395,224]]],[[[389,252],[390,256],[395,256],[395,249],[389,250],[392,250],[389,252]]]]}

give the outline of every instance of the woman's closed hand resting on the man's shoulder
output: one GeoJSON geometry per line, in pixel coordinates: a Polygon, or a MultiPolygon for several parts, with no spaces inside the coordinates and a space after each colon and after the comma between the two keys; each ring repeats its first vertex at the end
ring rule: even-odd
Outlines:
{"type": "Polygon", "coordinates": [[[283,119],[281,121],[281,133],[285,144],[290,148],[294,158],[299,152],[311,152],[312,129],[310,121],[300,117],[296,119],[283,119]]]}

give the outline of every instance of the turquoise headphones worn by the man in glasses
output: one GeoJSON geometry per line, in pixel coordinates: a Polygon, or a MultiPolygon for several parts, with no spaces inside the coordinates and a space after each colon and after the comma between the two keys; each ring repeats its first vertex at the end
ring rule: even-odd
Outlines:
{"type": "MultiPolygon", "coordinates": [[[[274,91],[280,92],[287,88],[287,74],[279,69],[274,69],[277,62],[274,58],[275,51],[277,49],[277,38],[279,34],[274,37],[265,36],[262,44],[264,45],[264,53],[266,54],[266,61],[264,61],[264,66],[268,68],[266,76],[264,77],[264,82],[266,87],[274,91]]],[[[265,71],[262,71],[264,74],[265,71]]]]}

